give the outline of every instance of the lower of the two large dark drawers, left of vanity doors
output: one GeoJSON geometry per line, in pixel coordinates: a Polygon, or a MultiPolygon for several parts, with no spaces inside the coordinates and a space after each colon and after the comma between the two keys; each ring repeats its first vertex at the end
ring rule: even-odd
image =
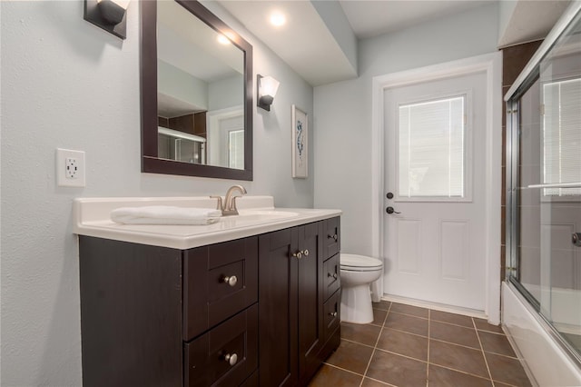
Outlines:
{"type": "Polygon", "coordinates": [[[240,385],[258,368],[258,305],[186,342],[183,358],[186,387],[240,385]]]}

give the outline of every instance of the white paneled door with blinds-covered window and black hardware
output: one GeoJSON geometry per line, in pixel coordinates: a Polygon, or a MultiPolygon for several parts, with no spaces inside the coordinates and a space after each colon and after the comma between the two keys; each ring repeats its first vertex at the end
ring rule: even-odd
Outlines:
{"type": "Polygon", "coordinates": [[[486,84],[384,91],[384,293],[485,310],[486,84]]]}

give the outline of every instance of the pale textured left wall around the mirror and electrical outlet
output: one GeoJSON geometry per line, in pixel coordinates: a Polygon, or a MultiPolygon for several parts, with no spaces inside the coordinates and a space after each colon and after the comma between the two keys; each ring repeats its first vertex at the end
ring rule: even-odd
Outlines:
{"type": "Polygon", "coordinates": [[[291,104],[312,116],[312,88],[207,5],[253,45],[255,74],[281,81],[270,113],[254,107],[253,182],[141,173],[139,2],[124,41],[84,21],[82,1],[0,2],[3,386],[81,385],[74,197],[224,194],[241,183],[279,206],[312,206],[312,174],[291,178],[291,104]],[[57,147],[86,152],[85,188],[56,186],[57,147]]]}

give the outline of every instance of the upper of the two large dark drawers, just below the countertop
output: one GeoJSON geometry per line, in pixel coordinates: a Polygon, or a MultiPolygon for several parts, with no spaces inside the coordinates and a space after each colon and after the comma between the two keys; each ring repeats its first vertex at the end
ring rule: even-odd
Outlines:
{"type": "Polygon", "coordinates": [[[183,340],[258,301],[258,237],[183,253],[183,340]]]}

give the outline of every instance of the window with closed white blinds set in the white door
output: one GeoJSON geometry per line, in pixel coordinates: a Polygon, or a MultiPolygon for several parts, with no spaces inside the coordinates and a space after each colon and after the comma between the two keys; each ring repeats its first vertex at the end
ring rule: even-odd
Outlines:
{"type": "Polygon", "coordinates": [[[467,199],[466,99],[399,105],[399,199],[467,199]]]}

